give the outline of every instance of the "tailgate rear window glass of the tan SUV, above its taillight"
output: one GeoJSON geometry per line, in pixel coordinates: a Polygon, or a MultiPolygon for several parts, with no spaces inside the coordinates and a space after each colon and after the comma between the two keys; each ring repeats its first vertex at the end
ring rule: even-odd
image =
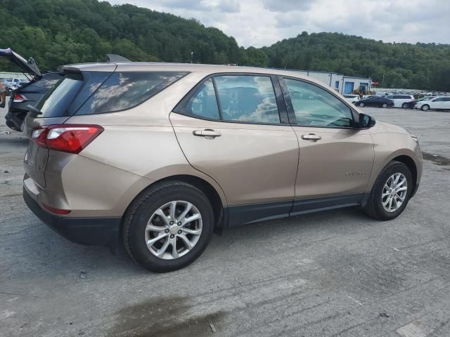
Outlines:
{"type": "Polygon", "coordinates": [[[67,115],[68,105],[83,84],[81,74],[68,74],[60,79],[36,104],[42,114],[37,117],[61,117],[67,115]]]}

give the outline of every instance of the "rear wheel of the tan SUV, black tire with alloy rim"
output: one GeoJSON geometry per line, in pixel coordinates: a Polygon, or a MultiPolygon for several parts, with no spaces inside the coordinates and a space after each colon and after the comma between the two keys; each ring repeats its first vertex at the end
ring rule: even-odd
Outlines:
{"type": "Polygon", "coordinates": [[[150,187],[124,218],[123,241],[131,258],[153,272],[170,272],[193,263],[214,230],[210,201],[181,181],[150,187]]]}

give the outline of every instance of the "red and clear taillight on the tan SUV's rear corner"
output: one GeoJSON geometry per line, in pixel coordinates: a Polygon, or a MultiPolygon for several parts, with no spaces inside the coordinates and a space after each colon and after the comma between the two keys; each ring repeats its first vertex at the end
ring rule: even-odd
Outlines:
{"type": "Polygon", "coordinates": [[[35,128],[32,132],[32,139],[41,147],[77,154],[103,130],[99,125],[50,125],[35,128]]]}

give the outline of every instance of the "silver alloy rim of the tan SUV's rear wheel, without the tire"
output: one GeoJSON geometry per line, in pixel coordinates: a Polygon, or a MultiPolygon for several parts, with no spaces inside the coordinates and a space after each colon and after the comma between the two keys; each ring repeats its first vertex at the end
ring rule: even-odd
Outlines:
{"type": "Polygon", "coordinates": [[[202,234],[200,211],[188,201],[176,200],[160,206],[145,229],[150,253],[163,260],[174,260],[191,251],[202,234]]]}

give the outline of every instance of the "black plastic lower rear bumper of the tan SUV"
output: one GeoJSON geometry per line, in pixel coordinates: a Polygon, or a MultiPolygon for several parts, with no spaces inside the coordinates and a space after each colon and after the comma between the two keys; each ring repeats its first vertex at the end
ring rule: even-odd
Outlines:
{"type": "Polygon", "coordinates": [[[109,246],[116,249],[121,218],[68,218],[56,216],[39,206],[23,189],[23,199],[32,212],[52,230],[77,244],[109,246]]]}

